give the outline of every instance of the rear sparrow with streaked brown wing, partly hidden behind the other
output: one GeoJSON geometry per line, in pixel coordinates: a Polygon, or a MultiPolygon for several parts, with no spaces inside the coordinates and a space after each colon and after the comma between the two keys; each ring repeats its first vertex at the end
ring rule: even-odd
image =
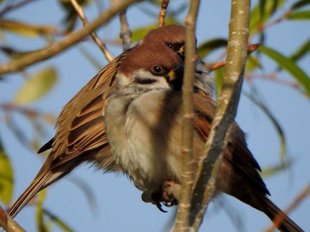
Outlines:
{"type": "MultiPolygon", "coordinates": [[[[168,25],[151,30],[136,46],[147,46],[155,41],[184,59],[184,39],[183,26],[168,25]]],[[[93,164],[104,173],[122,172],[110,152],[104,127],[104,107],[105,99],[115,89],[115,75],[127,53],[125,51],[108,63],[64,106],[57,118],[55,137],[38,153],[51,151],[32,183],[8,211],[11,217],[14,218],[38,191],[63,178],[83,162],[93,164]]],[[[200,58],[196,62],[195,76],[195,85],[212,94],[213,80],[200,58]]]]}

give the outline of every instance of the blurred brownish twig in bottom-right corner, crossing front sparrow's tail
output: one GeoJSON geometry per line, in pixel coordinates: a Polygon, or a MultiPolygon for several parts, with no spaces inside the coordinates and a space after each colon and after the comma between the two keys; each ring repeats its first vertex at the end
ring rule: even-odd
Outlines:
{"type": "MultiPolygon", "coordinates": [[[[310,193],[310,183],[308,184],[307,187],[305,187],[293,200],[293,202],[284,210],[284,213],[289,214],[292,212],[305,198],[306,196],[310,193]]],[[[270,225],[264,232],[272,232],[273,230],[276,229],[275,225],[280,225],[284,217],[279,214],[277,215],[272,221],[273,224],[270,225]]]]}

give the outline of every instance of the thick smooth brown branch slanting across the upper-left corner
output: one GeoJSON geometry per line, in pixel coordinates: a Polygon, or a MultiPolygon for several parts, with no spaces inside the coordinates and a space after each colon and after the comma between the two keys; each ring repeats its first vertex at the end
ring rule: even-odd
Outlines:
{"type": "Polygon", "coordinates": [[[51,58],[52,56],[55,56],[56,54],[62,52],[63,50],[81,41],[84,37],[89,35],[95,29],[99,28],[100,26],[108,22],[118,12],[124,11],[126,8],[128,8],[129,5],[137,1],[139,0],[122,0],[115,6],[109,7],[106,11],[100,14],[97,17],[97,19],[92,21],[88,26],[78,30],[77,32],[73,32],[68,37],[60,41],[59,43],[40,49],[37,52],[33,52],[25,56],[20,56],[9,62],[2,63],[0,65],[0,75],[5,74],[5,73],[19,71],[20,69],[24,67],[27,67],[34,63],[37,63],[37,62],[46,60],[48,58],[51,58]]]}

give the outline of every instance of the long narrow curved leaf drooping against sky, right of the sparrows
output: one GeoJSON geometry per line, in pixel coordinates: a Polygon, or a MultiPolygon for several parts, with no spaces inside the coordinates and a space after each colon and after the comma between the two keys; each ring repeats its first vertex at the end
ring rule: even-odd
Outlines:
{"type": "MultiPolygon", "coordinates": [[[[251,91],[251,92],[255,93],[255,91],[251,91]]],[[[257,105],[266,114],[266,116],[270,119],[272,124],[276,127],[277,133],[280,137],[280,160],[281,160],[281,164],[284,164],[285,154],[286,154],[286,139],[285,139],[285,135],[284,135],[284,131],[282,127],[280,126],[277,119],[273,116],[271,111],[267,108],[267,106],[263,104],[263,102],[260,101],[257,97],[255,97],[255,95],[249,94],[246,92],[243,92],[243,94],[247,98],[249,98],[253,103],[255,103],[255,105],[257,105]]]]}

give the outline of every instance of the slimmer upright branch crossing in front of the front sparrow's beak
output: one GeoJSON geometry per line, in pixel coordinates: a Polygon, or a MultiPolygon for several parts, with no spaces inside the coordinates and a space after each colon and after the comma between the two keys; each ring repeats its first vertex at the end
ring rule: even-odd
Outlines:
{"type": "Polygon", "coordinates": [[[182,85],[182,175],[181,191],[179,194],[179,206],[175,219],[175,231],[189,231],[188,217],[191,207],[191,195],[193,186],[194,162],[193,162],[193,88],[195,76],[196,55],[196,20],[200,0],[192,0],[189,6],[185,22],[185,70],[182,85]]]}

